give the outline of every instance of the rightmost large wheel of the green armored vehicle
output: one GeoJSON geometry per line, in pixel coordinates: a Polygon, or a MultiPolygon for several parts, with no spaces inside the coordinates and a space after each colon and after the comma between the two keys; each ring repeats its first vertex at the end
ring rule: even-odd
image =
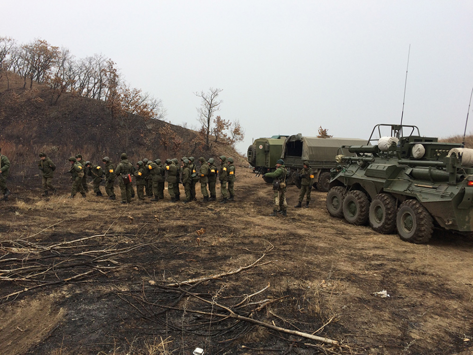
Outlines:
{"type": "Polygon", "coordinates": [[[417,200],[406,200],[399,207],[396,217],[398,235],[409,243],[427,243],[434,231],[434,220],[417,200]]]}

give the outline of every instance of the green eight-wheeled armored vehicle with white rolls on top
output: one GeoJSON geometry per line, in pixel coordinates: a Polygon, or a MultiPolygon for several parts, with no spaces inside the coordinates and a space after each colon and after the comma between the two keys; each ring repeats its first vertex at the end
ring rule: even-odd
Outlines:
{"type": "Polygon", "coordinates": [[[332,216],[411,243],[427,243],[434,227],[473,231],[473,149],[422,137],[416,126],[379,124],[367,144],[348,150],[355,156],[337,157],[329,183],[332,216]]]}

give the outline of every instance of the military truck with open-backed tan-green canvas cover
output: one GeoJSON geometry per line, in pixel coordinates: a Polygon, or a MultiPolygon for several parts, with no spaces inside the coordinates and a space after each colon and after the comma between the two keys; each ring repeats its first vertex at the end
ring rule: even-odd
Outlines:
{"type": "Polygon", "coordinates": [[[354,155],[343,150],[343,146],[363,144],[366,140],[355,138],[317,138],[304,137],[302,134],[289,136],[284,141],[280,158],[288,171],[287,183],[300,186],[299,172],[308,161],[314,171],[315,186],[323,192],[329,190],[330,170],[337,166],[335,156],[341,152],[354,155]]]}

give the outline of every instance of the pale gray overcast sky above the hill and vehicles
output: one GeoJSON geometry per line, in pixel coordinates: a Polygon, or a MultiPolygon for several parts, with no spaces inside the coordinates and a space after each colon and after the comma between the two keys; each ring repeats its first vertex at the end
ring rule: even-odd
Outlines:
{"type": "MultiPolygon", "coordinates": [[[[473,87],[473,1],[4,1],[0,36],[101,53],[197,127],[195,92],[221,88],[237,148],[275,134],[368,138],[376,123],[463,134],[473,87]]],[[[473,132],[473,116],[467,133],[473,132]]]]}

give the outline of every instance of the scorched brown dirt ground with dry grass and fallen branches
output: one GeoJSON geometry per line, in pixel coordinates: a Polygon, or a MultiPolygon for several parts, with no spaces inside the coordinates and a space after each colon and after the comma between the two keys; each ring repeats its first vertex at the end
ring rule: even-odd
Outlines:
{"type": "Polygon", "coordinates": [[[288,216],[270,217],[271,186],[237,176],[226,205],[165,190],[123,206],[66,186],[45,199],[39,178],[11,182],[0,353],[473,354],[473,237],[405,243],[331,217],[319,191],[295,209],[295,186],[288,216]]]}

